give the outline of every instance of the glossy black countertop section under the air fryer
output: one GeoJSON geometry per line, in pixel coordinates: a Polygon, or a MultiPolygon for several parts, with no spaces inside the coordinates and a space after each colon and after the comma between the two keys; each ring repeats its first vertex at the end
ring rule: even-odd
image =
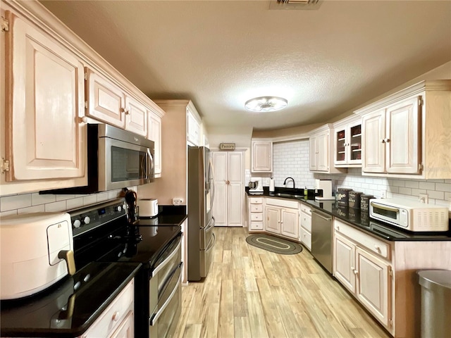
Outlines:
{"type": "Polygon", "coordinates": [[[1,337],[80,336],[140,267],[140,263],[89,263],[33,296],[1,301],[1,337]]]}

